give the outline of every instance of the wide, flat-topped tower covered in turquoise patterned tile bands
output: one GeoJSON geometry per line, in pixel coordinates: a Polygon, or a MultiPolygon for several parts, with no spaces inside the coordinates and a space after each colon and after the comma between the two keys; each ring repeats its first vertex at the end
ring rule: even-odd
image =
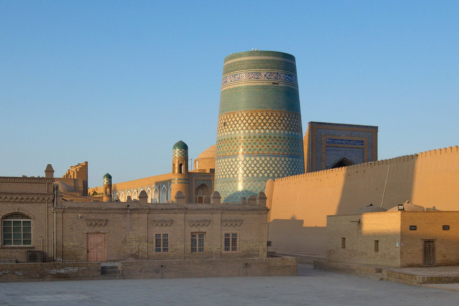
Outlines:
{"type": "Polygon", "coordinates": [[[295,57],[249,51],[225,58],[214,190],[222,201],[265,191],[266,182],[304,173],[295,57]]]}

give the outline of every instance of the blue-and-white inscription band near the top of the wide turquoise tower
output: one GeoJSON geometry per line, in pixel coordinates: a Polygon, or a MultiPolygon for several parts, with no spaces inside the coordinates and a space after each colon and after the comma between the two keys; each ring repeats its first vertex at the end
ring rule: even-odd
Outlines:
{"type": "Polygon", "coordinates": [[[253,82],[253,81],[274,81],[275,83],[287,83],[298,87],[296,75],[285,71],[238,71],[236,73],[224,75],[221,80],[221,89],[235,82],[253,82]]]}

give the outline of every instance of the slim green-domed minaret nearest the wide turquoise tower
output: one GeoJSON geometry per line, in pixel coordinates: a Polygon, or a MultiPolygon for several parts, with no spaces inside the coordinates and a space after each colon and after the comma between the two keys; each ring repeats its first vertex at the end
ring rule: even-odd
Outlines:
{"type": "Polygon", "coordinates": [[[185,202],[190,199],[190,180],[188,174],[188,145],[182,140],[172,147],[172,182],[171,199],[174,200],[175,193],[182,191],[185,195],[185,202]]]}

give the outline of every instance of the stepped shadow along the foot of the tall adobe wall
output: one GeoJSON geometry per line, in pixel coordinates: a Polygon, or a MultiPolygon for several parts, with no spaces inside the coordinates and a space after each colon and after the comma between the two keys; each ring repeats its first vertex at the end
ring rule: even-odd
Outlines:
{"type": "Polygon", "coordinates": [[[325,254],[326,227],[303,226],[303,220],[274,219],[268,225],[270,250],[288,250],[294,252],[325,254]]]}

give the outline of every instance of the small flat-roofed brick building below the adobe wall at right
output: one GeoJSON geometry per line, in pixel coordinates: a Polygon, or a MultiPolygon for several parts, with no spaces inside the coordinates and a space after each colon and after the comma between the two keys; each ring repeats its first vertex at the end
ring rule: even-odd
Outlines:
{"type": "Polygon", "coordinates": [[[392,267],[459,265],[459,212],[327,216],[327,261],[392,267]]]}

